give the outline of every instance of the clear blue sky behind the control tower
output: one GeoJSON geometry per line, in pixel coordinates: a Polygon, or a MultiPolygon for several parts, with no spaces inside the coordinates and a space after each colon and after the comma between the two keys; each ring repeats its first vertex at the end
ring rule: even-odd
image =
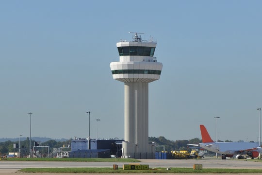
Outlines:
{"type": "Polygon", "coordinates": [[[259,137],[261,0],[0,0],[0,138],[124,138],[116,42],[157,40],[149,137],[259,137]]]}

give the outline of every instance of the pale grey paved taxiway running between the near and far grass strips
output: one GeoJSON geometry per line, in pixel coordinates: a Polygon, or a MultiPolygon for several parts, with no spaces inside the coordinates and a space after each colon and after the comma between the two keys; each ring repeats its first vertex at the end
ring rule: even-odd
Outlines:
{"type": "MultiPolygon", "coordinates": [[[[229,168],[229,169],[261,169],[261,162],[245,161],[245,160],[222,160],[216,158],[202,158],[202,159],[172,159],[172,160],[158,160],[158,159],[141,159],[140,164],[148,164],[149,168],[193,168],[194,164],[202,164],[204,168],[229,168]]],[[[48,161],[0,161],[0,175],[11,175],[22,168],[64,168],[64,167],[112,167],[117,164],[122,167],[123,162],[48,162],[48,161]]],[[[30,174],[27,174],[30,175],[30,174]]],[[[32,174],[37,175],[37,174],[32,174]]],[[[41,174],[45,175],[45,174],[41,174]]],[[[46,174],[52,175],[52,174],[46,174]]],[[[69,174],[68,174],[69,175],[69,174]]],[[[74,174],[75,175],[75,174],[74,174]]],[[[83,174],[82,174],[83,175],[83,174]]],[[[130,174],[129,174],[130,175],[130,174]]],[[[166,174],[165,174],[166,175],[166,174]]],[[[243,174],[244,175],[244,174],[243,174]]],[[[246,175],[246,174],[245,174],[246,175]]]]}

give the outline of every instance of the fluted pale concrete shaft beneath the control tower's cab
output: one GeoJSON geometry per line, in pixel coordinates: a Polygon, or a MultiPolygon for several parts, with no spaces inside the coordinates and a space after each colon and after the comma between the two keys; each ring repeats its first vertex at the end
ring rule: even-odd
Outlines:
{"type": "Polygon", "coordinates": [[[137,152],[147,152],[148,83],[125,83],[125,141],[139,144],[137,152]]]}

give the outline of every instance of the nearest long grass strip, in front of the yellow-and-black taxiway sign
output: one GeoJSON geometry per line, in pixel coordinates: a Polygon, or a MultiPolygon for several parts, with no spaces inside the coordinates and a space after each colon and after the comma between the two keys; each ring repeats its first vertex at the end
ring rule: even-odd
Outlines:
{"type": "Polygon", "coordinates": [[[201,173],[213,173],[213,174],[238,174],[238,173],[262,173],[262,170],[249,170],[249,169],[202,169],[193,170],[193,168],[171,168],[171,170],[166,170],[166,168],[150,168],[149,170],[123,170],[123,168],[118,168],[118,170],[113,170],[112,168],[24,168],[18,172],[26,173],[191,173],[191,174],[201,174],[201,173]]]}

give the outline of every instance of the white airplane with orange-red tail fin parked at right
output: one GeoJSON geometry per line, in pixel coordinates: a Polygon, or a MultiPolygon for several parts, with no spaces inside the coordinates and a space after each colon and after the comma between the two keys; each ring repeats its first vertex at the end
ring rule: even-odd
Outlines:
{"type": "Polygon", "coordinates": [[[221,158],[233,157],[234,155],[248,155],[252,158],[258,157],[262,152],[262,147],[258,143],[252,142],[215,142],[211,139],[206,127],[200,125],[202,136],[202,143],[188,144],[192,146],[199,146],[206,150],[222,154],[221,158]]]}

